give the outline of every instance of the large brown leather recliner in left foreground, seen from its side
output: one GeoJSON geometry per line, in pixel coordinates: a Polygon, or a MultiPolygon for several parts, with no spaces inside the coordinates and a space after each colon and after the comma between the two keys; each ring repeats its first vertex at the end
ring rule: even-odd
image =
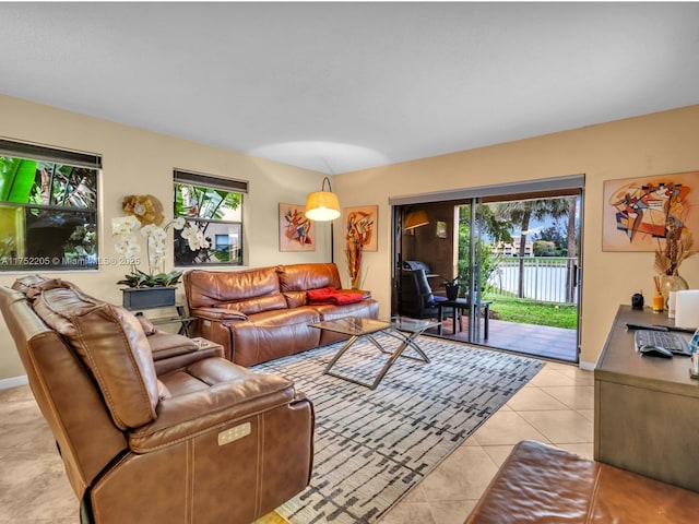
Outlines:
{"type": "Polygon", "coordinates": [[[179,335],[156,367],[128,311],[58,279],[14,287],[0,309],[83,523],[248,524],[308,485],[313,409],[291,381],[179,335]]]}

